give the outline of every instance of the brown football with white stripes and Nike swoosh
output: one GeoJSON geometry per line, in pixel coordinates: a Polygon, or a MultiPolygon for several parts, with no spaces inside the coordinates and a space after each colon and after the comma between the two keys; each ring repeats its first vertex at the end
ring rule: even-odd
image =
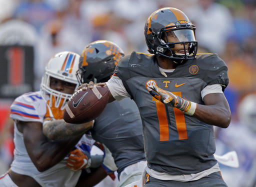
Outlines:
{"type": "Polygon", "coordinates": [[[84,123],[95,119],[108,101],[108,88],[93,86],[92,89],[79,89],[67,102],[63,119],[68,123],[84,123]]]}

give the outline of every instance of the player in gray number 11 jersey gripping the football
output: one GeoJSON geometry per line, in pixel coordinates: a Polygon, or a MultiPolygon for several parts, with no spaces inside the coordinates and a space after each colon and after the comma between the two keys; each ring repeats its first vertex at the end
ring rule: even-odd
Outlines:
{"type": "Polygon", "coordinates": [[[156,10],[144,28],[152,54],[124,56],[105,83],[109,102],[131,97],[139,109],[146,187],[226,186],[213,155],[213,125],[226,128],[231,119],[222,92],[227,67],[217,54],[196,53],[194,31],[179,9],[156,10]]]}

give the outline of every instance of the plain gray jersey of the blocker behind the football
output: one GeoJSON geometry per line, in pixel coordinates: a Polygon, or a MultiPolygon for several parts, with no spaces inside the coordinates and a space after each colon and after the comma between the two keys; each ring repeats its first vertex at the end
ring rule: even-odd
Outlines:
{"type": "Polygon", "coordinates": [[[145,160],[141,119],[130,98],[108,103],[95,119],[91,133],[111,151],[118,174],[126,166],[145,160]]]}

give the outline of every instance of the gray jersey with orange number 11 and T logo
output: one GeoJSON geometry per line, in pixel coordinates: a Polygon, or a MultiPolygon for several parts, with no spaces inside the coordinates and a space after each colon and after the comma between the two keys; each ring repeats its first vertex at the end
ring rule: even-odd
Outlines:
{"type": "Polygon", "coordinates": [[[228,84],[227,67],[216,54],[199,54],[163,75],[154,55],[131,53],[115,69],[139,109],[148,167],[169,174],[197,173],[216,164],[213,126],[179,109],[164,105],[149,94],[157,84],[185,99],[204,104],[206,85],[228,84]]]}

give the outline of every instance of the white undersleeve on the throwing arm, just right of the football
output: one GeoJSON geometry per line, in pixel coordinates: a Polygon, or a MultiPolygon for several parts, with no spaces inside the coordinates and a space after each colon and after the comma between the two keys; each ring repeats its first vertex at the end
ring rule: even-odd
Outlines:
{"type": "Polygon", "coordinates": [[[112,76],[106,85],[111,92],[112,96],[116,100],[121,100],[124,97],[130,97],[129,93],[126,91],[121,79],[118,76],[112,76]]]}

